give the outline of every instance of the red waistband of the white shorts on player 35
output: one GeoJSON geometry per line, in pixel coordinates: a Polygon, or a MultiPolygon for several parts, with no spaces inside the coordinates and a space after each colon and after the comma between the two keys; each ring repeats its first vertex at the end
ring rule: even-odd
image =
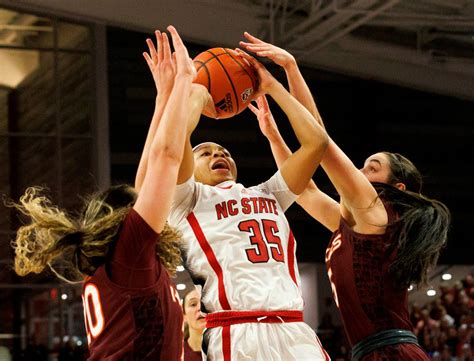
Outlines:
{"type": "Polygon", "coordinates": [[[302,311],[222,311],[206,316],[206,328],[224,327],[238,323],[303,322],[302,311]]]}

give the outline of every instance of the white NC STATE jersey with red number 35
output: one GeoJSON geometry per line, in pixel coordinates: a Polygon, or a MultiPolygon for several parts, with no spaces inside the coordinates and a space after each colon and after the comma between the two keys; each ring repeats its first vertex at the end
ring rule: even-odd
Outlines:
{"type": "Polygon", "coordinates": [[[207,312],[303,309],[284,215],[296,197],[280,172],[250,188],[194,178],[177,187],[169,223],[183,233],[185,266],[203,285],[207,312]]]}

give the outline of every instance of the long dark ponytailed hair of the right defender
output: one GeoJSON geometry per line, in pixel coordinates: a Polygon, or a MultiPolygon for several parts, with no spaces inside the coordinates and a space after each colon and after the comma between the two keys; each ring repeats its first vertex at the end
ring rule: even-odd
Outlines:
{"type": "Polygon", "coordinates": [[[397,256],[390,265],[395,283],[400,287],[426,286],[428,272],[438,261],[445,246],[451,215],[440,201],[422,195],[422,177],[415,165],[398,153],[383,152],[390,162],[389,184],[374,183],[382,200],[397,214],[387,232],[394,239],[388,254],[397,256]],[[394,184],[405,184],[400,190],[394,184]]]}

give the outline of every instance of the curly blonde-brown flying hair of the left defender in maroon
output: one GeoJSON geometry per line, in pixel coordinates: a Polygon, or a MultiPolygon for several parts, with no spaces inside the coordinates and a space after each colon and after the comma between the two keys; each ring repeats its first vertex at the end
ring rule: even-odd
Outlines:
{"type": "MultiPolygon", "coordinates": [[[[7,202],[28,218],[12,241],[14,269],[20,276],[41,273],[47,266],[61,279],[80,281],[105,263],[122,221],[136,199],[128,185],[114,186],[85,201],[78,217],[54,206],[39,187],[28,188],[19,203],[7,202]]],[[[180,236],[168,225],[157,239],[157,255],[171,275],[181,262],[180,236]],[[158,242],[159,239],[159,242],[158,242]]]]}

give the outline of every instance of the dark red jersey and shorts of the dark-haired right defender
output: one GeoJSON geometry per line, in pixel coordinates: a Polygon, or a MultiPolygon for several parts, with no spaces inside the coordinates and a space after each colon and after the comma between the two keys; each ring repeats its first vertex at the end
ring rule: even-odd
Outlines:
{"type": "MultiPolygon", "coordinates": [[[[395,215],[386,207],[389,222],[395,215]]],[[[408,292],[394,287],[388,269],[396,252],[387,255],[393,242],[388,234],[354,232],[341,218],[326,250],[326,265],[333,296],[351,346],[377,332],[390,329],[413,331],[408,313],[408,292]]],[[[428,360],[414,344],[378,349],[362,360],[428,360]]]]}

